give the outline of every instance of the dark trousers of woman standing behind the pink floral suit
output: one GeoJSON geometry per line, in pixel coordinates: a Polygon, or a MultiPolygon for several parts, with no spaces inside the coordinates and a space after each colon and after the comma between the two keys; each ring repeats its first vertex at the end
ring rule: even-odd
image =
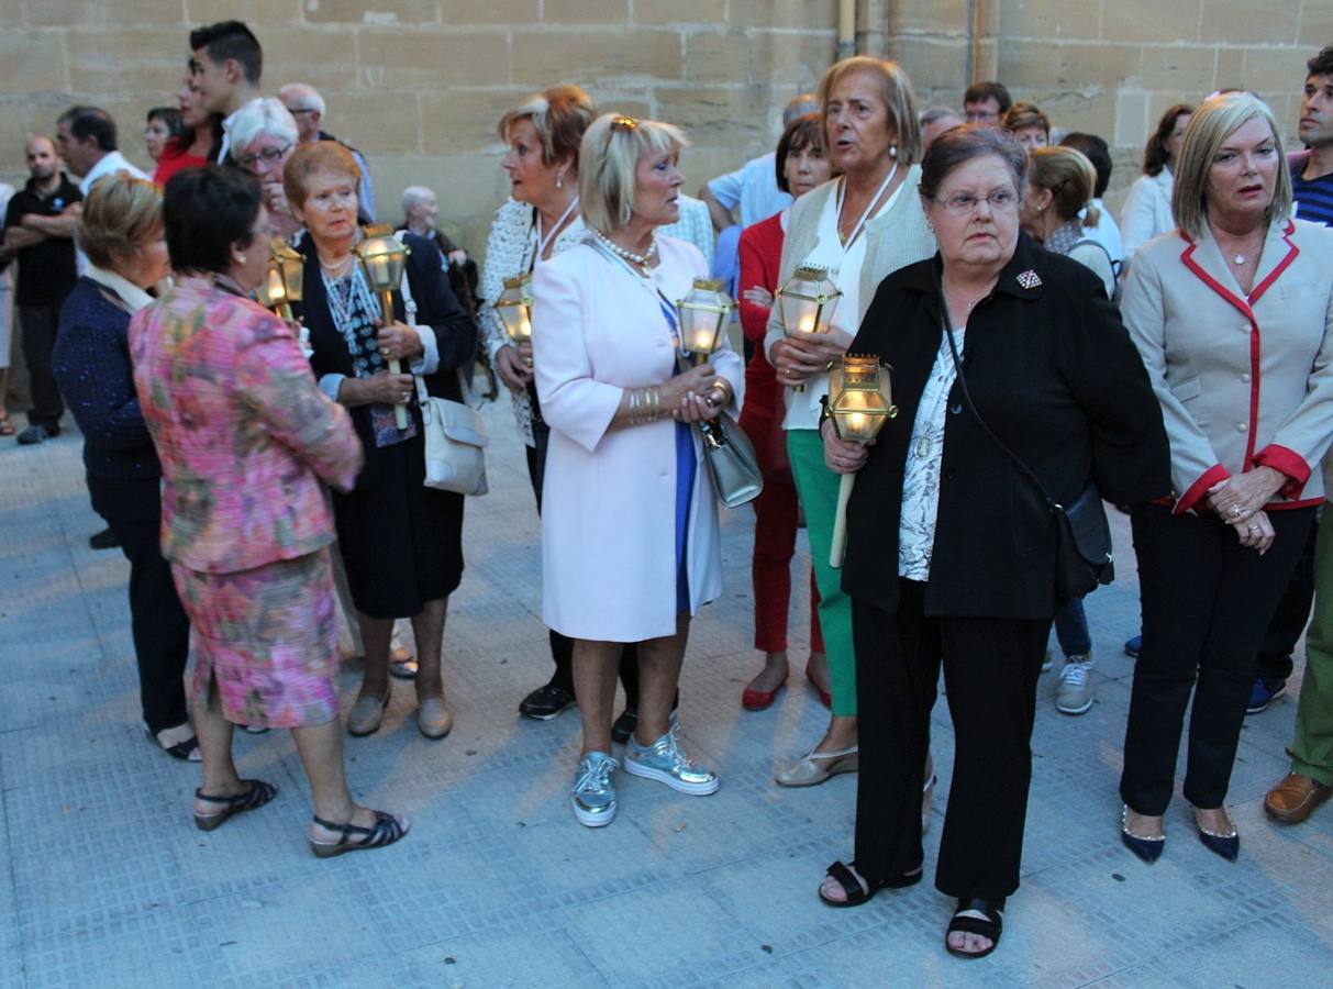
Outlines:
{"type": "Polygon", "coordinates": [[[93,510],[120,540],[129,560],[129,628],[139,662],[139,700],[152,733],[185,724],[185,662],[189,618],[176,596],[171,564],[161,554],[157,479],[88,479],[93,510]]]}

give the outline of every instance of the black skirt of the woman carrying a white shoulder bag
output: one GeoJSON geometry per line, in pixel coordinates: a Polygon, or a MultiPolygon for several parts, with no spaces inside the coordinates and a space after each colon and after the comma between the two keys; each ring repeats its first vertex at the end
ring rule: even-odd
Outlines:
{"type": "MultiPolygon", "coordinates": [[[[415,409],[413,409],[415,412],[415,409]]],[[[357,610],[411,618],[427,601],[453,593],[463,578],[463,494],[424,487],[425,449],[417,435],[368,448],[369,487],[333,493],[333,520],[357,610]]]]}

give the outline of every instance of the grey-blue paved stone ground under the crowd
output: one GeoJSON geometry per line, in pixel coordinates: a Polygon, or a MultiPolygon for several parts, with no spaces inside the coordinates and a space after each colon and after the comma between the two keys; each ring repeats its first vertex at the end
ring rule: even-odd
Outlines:
{"type": "MultiPolygon", "coordinates": [[[[985,961],[944,952],[950,902],[929,884],[857,910],[816,900],[824,868],[850,852],[854,778],[772,782],[826,720],[798,673],[773,709],[740,709],[757,666],[745,510],[725,520],[726,593],[694,625],[681,685],[685,744],[720,768],[721,790],[689,798],[623,776],[619,820],[579,826],[567,800],[577,716],[515,714],[549,664],[537,520],[508,403],[488,417],[492,493],[468,505],[445,642],[457,726],[425,741],[411,689],[396,688],[387,726],[348,741],[349,776],[359,798],[407,813],[412,834],[327,862],[305,846],[308,792],[287,733],[236,742],[241,770],[277,782],[279,800],[211,834],[193,828],[196,769],[139,725],[128,565],[87,546],[101,526],[80,439],[0,449],[0,986],[1329,985],[1333,810],[1285,829],[1260,809],[1285,769],[1293,698],[1245,725],[1238,864],[1194,840],[1182,800],[1157,865],[1120,845],[1132,562],[1089,601],[1093,709],[1056,713],[1042,678],[1022,890],[985,961]]],[[[800,669],[804,608],[792,628],[800,669]]],[[[345,669],[347,704],[356,682],[345,669]]],[[[936,721],[942,797],[944,704],[936,721]]]]}

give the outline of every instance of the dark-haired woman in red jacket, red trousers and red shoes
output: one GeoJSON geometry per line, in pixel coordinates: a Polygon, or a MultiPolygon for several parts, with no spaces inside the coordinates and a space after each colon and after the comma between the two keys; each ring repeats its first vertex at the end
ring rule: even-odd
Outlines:
{"type": "MultiPolygon", "coordinates": [[[[824,131],[817,113],[797,117],[777,143],[777,187],[800,199],[828,181],[833,169],[824,153],[824,131]]],[[[745,405],[741,428],[754,444],[764,472],[764,493],[754,500],[754,648],[764,650],[764,669],[741,694],[746,710],[764,710],[786,682],[786,609],[792,596],[792,554],[796,552],[798,506],[792,468],[782,436],[782,389],[764,357],[764,331],[777,291],[777,265],[790,207],[741,233],[741,328],[754,344],[745,368],[745,405]]],[[[810,662],[806,678],[830,702],[824,638],[816,613],[818,592],[810,580],[810,662]]]]}

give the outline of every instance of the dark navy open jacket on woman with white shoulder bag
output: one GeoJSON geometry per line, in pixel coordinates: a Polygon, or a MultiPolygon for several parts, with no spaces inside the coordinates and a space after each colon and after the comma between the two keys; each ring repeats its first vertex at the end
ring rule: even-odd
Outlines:
{"type": "MultiPolygon", "coordinates": [[[[412,299],[416,301],[417,324],[431,327],[435,331],[440,351],[439,368],[435,373],[423,377],[425,389],[433,396],[460,401],[461,389],[457,369],[476,355],[477,327],[449,288],[449,280],[441,268],[440,249],[425,237],[419,237],[415,233],[405,235],[404,243],[411,251],[404,277],[407,277],[412,299]]],[[[315,377],[319,379],[324,375],[353,377],[352,355],[329,313],[324,279],[320,276],[320,260],[315,252],[315,240],[309,236],[301,237],[299,251],[305,256],[300,311],[311,331],[311,349],[315,351],[311,356],[311,368],[315,371],[315,377]]],[[[401,292],[393,293],[393,315],[396,319],[407,321],[401,292]]],[[[416,407],[415,395],[411,408],[420,435],[421,412],[416,407]]],[[[365,448],[365,467],[361,468],[356,487],[357,489],[373,488],[379,484],[380,464],[371,431],[371,407],[359,405],[348,411],[352,413],[352,424],[365,448]]]]}

